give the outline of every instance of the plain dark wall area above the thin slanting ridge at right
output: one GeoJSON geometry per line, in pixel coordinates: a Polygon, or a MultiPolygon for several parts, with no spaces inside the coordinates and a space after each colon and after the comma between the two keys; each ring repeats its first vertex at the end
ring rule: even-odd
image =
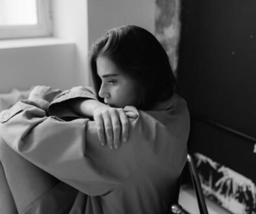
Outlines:
{"type": "Polygon", "coordinates": [[[178,79],[192,116],[256,137],[256,1],[183,0],[178,79]]]}

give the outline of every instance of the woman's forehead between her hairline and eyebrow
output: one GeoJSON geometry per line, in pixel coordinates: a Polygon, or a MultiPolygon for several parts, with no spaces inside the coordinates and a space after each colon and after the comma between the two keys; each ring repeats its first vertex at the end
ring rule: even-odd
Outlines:
{"type": "Polygon", "coordinates": [[[105,56],[99,56],[96,59],[97,75],[103,77],[103,75],[120,75],[120,69],[117,65],[105,56]]]}

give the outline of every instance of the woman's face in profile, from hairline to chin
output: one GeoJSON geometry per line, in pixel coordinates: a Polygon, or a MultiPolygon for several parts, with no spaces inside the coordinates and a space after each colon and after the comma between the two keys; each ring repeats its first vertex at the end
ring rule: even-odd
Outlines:
{"type": "Polygon", "coordinates": [[[96,65],[97,75],[102,81],[99,97],[104,99],[105,104],[115,108],[136,106],[138,91],[135,81],[121,72],[114,62],[105,56],[99,56],[96,65]]]}

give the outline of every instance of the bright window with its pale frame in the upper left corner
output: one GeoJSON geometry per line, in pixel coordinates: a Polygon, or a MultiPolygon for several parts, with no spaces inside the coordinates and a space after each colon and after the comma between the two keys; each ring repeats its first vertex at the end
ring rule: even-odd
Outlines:
{"type": "Polygon", "coordinates": [[[0,39],[51,35],[49,0],[0,0],[0,39]]]}

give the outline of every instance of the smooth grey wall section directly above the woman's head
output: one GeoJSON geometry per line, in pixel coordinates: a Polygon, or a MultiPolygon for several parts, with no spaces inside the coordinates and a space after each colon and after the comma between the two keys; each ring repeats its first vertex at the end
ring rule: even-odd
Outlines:
{"type": "Polygon", "coordinates": [[[154,34],[155,0],[88,0],[89,45],[122,25],[138,25],[154,34]]]}

